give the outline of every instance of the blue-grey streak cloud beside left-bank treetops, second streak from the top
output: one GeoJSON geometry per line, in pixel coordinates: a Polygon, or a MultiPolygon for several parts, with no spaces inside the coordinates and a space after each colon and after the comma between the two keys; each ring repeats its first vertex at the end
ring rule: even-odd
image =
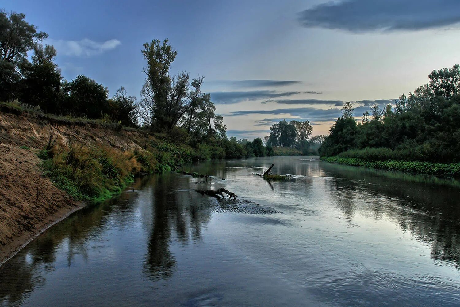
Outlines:
{"type": "Polygon", "coordinates": [[[214,92],[211,93],[211,100],[214,104],[236,104],[238,102],[247,100],[286,97],[301,93],[302,92],[276,92],[269,90],[247,92],[214,92]]]}

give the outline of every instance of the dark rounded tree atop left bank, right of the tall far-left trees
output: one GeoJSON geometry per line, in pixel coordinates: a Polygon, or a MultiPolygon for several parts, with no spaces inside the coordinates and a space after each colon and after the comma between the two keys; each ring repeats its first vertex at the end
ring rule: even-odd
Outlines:
{"type": "Polygon", "coordinates": [[[63,84],[66,95],[64,110],[75,116],[100,118],[109,114],[109,91],[107,87],[88,78],[78,75],[74,80],[63,84]]]}

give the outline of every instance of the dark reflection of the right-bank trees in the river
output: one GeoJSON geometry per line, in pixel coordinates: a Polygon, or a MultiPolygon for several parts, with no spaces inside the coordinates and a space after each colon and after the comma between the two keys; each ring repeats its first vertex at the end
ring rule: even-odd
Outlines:
{"type": "Polygon", "coordinates": [[[371,213],[376,220],[385,216],[417,240],[430,244],[432,259],[460,269],[458,186],[425,183],[421,176],[413,176],[411,181],[408,174],[399,179],[397,173],[385,177],[368,170],[345,170],[334,176],[349,180],[334,180],[329,190],[347,218],[352,218],[355,210],[371,213]],[[352,194],[374,197],[372,205],[351,201],[348,196],[352,194]]]}

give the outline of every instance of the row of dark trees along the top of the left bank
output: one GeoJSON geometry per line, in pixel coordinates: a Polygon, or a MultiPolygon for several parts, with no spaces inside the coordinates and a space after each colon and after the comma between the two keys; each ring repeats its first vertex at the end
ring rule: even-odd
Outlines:
{"type": "Polygon", "coordinates": [[[109,97],[107,87],[85,75],[64,80],[54,63],[56,49],[40,44],[48,35],[38,32],[24,14],[0,11],[0,24],[0,101],[57,116],[141,128],[192,148],[194,159],[273,155],[272,145],[293,146],[282,135],[276,142],[271,138],[267,146],[260,138],[228,139],[223,117],[215,114],[210,94],[201,91],[203,78],[170,74],[177,51],[168,40],[144,44],[145,82],[137,100],[123,87],[109,97]],[[33,52],[30,60],[28,52],[33,52]]]}

